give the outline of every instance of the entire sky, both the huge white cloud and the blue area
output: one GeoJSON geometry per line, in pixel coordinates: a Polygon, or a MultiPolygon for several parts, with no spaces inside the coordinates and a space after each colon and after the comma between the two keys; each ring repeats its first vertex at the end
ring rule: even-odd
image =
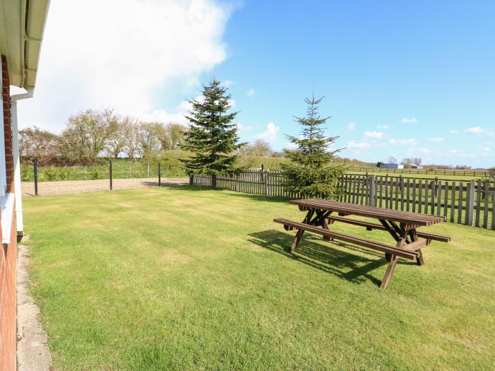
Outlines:
{"type": "Polygon", "coordinates": [[[215,74],[241,139],[280,150],[315,83],[344,157],[490,167],[494,18],[495,1],[52,0],[20,123],[60,131],[113,107],[185,124],[185,99],[215,74]]]}

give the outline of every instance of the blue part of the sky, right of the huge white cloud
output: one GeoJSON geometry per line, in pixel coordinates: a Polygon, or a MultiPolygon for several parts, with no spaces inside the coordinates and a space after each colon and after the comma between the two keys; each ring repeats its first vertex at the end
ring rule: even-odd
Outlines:
{"type": "Polygon", "coordinates": [[[245,140],[272,122],[286,146],[314,82],[343,156],[493,166],[494,19],[494,1],[245,1],[216,76],[245,140]]]}

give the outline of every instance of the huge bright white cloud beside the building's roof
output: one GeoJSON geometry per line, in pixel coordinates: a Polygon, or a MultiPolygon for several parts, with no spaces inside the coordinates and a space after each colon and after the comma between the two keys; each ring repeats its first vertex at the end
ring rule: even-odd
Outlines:
{"type": "Polygon", "coordinates": [[[60,129],[88,107],[178,119],[161,92],[187,97],[226,59],[231,11],[211,0],[52,1],[35,98],[19,103],[21,127],[60,129]]]}

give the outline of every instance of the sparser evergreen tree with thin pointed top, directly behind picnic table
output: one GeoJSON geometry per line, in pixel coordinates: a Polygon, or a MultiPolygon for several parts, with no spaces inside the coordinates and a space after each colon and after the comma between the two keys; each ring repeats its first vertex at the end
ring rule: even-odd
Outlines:
{"type": "Polygon", "coordinates": [[[289,163],[281,164],[285,186],[289,192],[296,192],[302,197],[323,197],[335,199],[339,194],[337,180],[344,167],[332,164],[340,150],[330,148],[338,136],[325,136],[322,127],[327,119],[318,114],[318,104],[323,98],[315,100],[305,98],[308,105],[306,117],[296,117],[301,124],[301,136],[287,136],[296,147],[285,149],[285,157],[289,163]]]}

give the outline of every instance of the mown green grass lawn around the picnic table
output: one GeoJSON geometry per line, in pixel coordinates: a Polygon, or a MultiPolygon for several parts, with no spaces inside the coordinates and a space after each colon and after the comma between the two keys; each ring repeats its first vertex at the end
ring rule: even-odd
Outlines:
{"type": "MultiPolygon", "coordinates": [[[[57,370],[493,370],[495,231],[402,261],[294,232],[295,206],[199,188],[24,201],[57,370]]],[[[332,229],[390,242],[382,231],[332,229]]]]}

